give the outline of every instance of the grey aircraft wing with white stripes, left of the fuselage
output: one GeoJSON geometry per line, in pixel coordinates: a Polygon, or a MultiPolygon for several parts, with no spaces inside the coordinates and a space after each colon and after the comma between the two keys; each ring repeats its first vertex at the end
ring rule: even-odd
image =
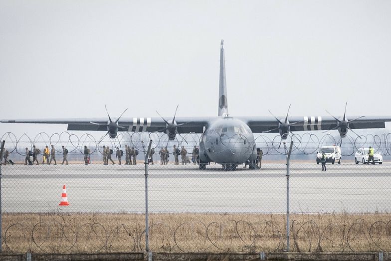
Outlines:
{"type": "MultiPolygon", "coordinates": [[[[183,124],[178,127],[179,133],[202,133],[203,128],[207,127],[209,122],[217,117],[177,117],[177,124],[183,124]]],[[[167,117],[170,122],[171,119],[167,117]]],[[[114,119],[113,119],[114,121],[114,119]]],[[[37,123],[37,124],[66,124],[67,130],[78,131],[107,131],[107,118],[69,118],[69,119],[6,119],[0,120],[2,123],[37,123]]],[[[133,132],[156,132],[162,131],[166,127],[166,122],[160,117],[132,117],[121,118],[118,125],[125,128],[119,128],[119,131],[133,132]]]]}

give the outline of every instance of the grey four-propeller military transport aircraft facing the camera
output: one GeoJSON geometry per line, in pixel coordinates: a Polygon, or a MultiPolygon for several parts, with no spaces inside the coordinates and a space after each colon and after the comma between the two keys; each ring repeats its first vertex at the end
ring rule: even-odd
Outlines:
{"type": "MultiPolygon", "coordinates": [[[[290,108],[290,105],[289,105],[290,108]]],[[[81,119],[44,119],[44,120],[1,120],[3,123],[46,123],[67,124],[68,130],[107,131],[110,138],[117,137],[118,131],[129,132],[165,132],[169,140],[174,140],[181,133],[201,133],[199,143],[199,169],[205,169],[209,162],[221,164],[226,170],[233,170],[238,164],[249,162],[249,168],[255,168],[256,144],[253,133],[275,132],[279,133],[281,140],[288,137],[292,131],[316,131],[337,129],[341,138],[345,137],[348,130],[366,128],[385,128],[385,122],[391,121],[390,117],[346,117],[346,105],[342,120],[330,116],[304,116],[290,117],[288,113],[283,118],[275,117],[231,117],[228,114],[225,59],[223,40],[220,45],[220,79],[218,116],[216,117],[178,117],[177,110],[172,119],[159,117],[134,117],[112,121],[105,118],[81,118],[81,119]],[[119,125],[121,124],[121,125],[119,125]]],[[[178,109],[178,106],[177,106],[178,109]]],[[[106,109],[107,111],[107,109],[106,109]]],[[[270,111],[269,111],[270,112],[270,111]]],[[[270,112],[271,113],[271,112],[270,112]]],[[[352,131],[355,133],[354,131],[352,131]]],[[[281,145],[281,143],[280,143],[281,145]]]]}

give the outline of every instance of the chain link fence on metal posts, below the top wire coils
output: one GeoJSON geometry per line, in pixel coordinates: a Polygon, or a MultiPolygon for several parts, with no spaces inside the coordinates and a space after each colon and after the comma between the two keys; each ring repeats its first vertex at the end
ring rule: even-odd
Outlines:
{"type": "MultiPolygon", "coordinates": [[[[151,251],[287,249],[284,157],[264,156],[255,170],[239,165],[225,171],[214,163],[199,170],[191,153],[179,165],[170,153],[168,164],[161,164],[158,144],[154,164],[148,165],[151,251]]],[[[39,165],[24,165],[24,146],[9,155],[14,164],[1,165],[3,251],[146,249],[145,147],[136,147],[136,165],[125,164],[125,155],[122,165],[114,156],[114,165],[103,165],[101,145],[91,147],[87,165],[80,149],[69,151],[68,165],[61,165],[60,148],[56,165],[42,164],[41,157],[39,165]],[[63,185],[69,206],[59,206],[63,185]]],[[[391,251],[391,164],[345,158],[322,171],[315,155],[311,160],[295,155],[289,166],[290,251],[391,251]]]]}

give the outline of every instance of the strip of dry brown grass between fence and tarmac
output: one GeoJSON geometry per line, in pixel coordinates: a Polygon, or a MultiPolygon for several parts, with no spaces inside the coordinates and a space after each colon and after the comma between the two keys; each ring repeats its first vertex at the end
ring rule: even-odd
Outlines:
{"type": "MultiPolygon", "coordinates": [[[[151,214],[156,252],[280,252],[285,215],[151,214]]],[[[24,253],[134,252],[145,249],[142,214],[3,214],[3,250],[24,253]]],[[[295,252],[391,251],[391,215],[291,215],[295,252]]]]}

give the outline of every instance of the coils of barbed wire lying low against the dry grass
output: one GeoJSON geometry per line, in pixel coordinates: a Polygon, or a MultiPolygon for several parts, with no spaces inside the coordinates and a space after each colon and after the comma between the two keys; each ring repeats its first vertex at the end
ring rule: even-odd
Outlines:
{"type": "MultiPolygon", "coordinates": [[[[261,220],[184,222],[179,226],[150,225],[151,250],[156,252],[282,252],[284,224],[261,220]]],[[[128,224],[104,226],[63,222],[14,223],[4,229],[5,252],[115,253],[145,249],[145,230],[128,224]]],[[[309,220],[291,223],[293,252],[391,251],[391,220],[318,225],[309,220]]]]}

